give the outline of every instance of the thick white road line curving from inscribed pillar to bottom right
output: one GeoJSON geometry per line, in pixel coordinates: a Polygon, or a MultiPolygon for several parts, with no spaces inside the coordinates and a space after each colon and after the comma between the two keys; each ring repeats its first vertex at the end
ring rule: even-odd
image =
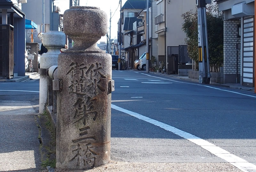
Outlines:
{"type": "Polygon", "coordinates": [[[206,140],[203,140],[199,137],[196,137],[190,133],[187,133],[185,131],[182,131],[178,128],[175,128],[171,125],[167,125],[167,124],[164,124],[162,122],[159,122],[159,121],[156,121],[154,119],[151,119],[151,118],[148,118],[148,117],[145,117],[143,115],[140,115],[139,113],[136,113],[136,112],[132,112],[132,111],[128,111],[126,109],[123,109],[121,107],[118,107],[114,104],[111,104],[111,108],[117,110],[117,111],[121,111],[121,112],[124,112],[126,114],[129,114],[135,118],[138,118],[138,119],[141,119],[143,121],[146,121],[150,124],[153,124],[153,125],[156,125],[160,128],[163,128],[164,130],[167,130],[169,132],[172,132],[184,139],[187,139],[193,143],[195,143],[196,145],[204,148],[205,150],[209,151],[210,153],[214,154],[215,156],[225,160],[225,161],[228,161],[230,164],[236,166],[237,168],[239,168],[240,170],[242,171],[245,171],[245,172],[252,172],[252,171],[256,171],[256,165],[248,162],[248,161],[245,161],[244,159],[234,155],[234,154],[231,154],[229,153],[228,151],[206,141],[206,140]]]}

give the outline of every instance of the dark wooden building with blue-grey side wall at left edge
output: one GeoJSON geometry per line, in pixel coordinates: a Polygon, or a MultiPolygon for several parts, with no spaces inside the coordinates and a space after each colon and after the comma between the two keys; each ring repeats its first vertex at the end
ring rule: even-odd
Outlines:
{"type": "Polygon", "coordinates": [[[0,32],[8,34],[7,37],[1,37],[0,40],[0,78],[2,79],[6,77],[6,68],[9,68],[8,73],[10,74],[7,79],[16,75],[25,76],[26,22],[25,13],[21,11],[23,3],[26,3],[26,0],[0,0],[2,21],[0,32]]]}

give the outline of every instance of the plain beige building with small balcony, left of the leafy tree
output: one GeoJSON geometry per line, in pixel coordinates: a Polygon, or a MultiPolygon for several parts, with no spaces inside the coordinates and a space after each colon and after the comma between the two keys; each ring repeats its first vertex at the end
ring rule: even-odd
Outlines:
{"type": "MultiPolygon", "coordinates": [[[[169,58],[179,54],[179,45],[185,45],[186,34],[182,31],[182,14],[196,11],[196,1],[191,0],[157,0],[155,16],[155,33],[158,40],[157,61],[165,64],[168,74],[169,58]]],[[[153,10],[154,11],[154,10],[153,10]]]]}

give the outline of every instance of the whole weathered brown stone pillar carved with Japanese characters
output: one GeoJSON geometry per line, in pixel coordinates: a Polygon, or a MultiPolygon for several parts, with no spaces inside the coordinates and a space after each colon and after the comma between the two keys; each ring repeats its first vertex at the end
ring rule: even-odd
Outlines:
{"type": "Polygon", "coordinates": [[[59,55],[56,168],[84,170],[110,160],[112,59],[96,42],[107,33],[106,13],[73,6],[64,12],[64,32],[74,46],[59,55]]]}

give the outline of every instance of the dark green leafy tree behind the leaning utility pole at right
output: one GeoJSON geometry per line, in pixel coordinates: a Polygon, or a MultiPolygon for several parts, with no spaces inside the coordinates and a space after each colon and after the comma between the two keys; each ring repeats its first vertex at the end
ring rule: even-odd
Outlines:
{"type": "MultiPolygon", "coordinates": [[[[223,63],[223,21],[222,14],[218,12],[218,5],[209,4],[206,7],[208,45],[211,71],[218,72],[223,63]]],[[[182,14],[184,20],[182,30],[186,33],[186,44],[191,59],[198,64],[198,31],[197,10],[182,14]]]]}

